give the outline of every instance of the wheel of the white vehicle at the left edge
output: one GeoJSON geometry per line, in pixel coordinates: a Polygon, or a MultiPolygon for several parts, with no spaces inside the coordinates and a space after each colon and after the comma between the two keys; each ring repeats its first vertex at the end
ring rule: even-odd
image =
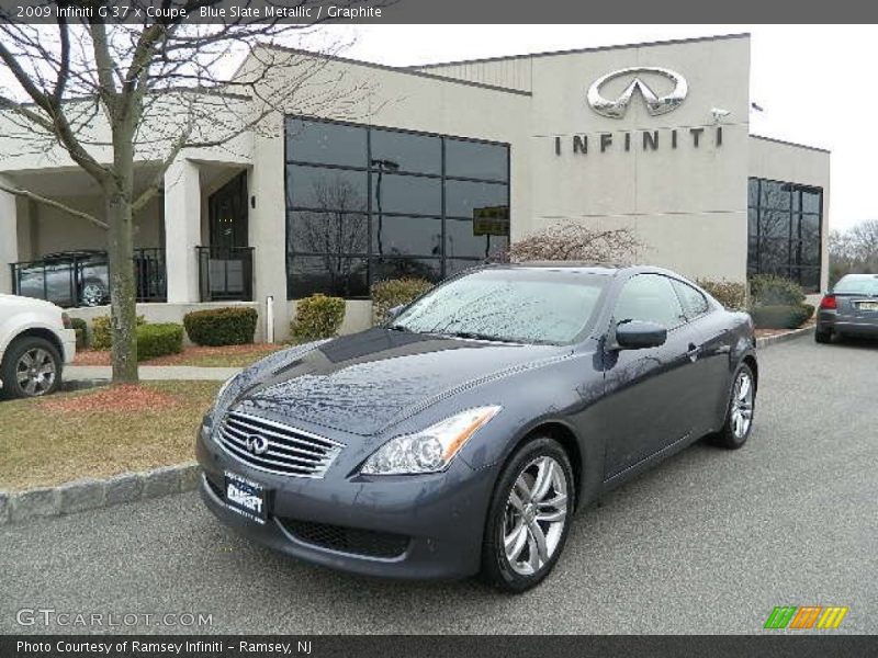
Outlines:
{"type": "Polygon", "coordinates": [[[16,338],[0,364],[7,398],[40,397],[55,393],[61,383],[61,359],[49,341],[35,336],[16,338]]]}

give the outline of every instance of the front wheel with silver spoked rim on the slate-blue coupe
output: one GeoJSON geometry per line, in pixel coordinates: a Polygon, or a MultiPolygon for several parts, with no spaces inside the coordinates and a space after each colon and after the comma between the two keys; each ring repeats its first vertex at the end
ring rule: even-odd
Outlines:
{"type": "Polygon", "coordinates": [[[526,443],[494,490],[482,547],[482,578],[520,593],[554,568],[567,540],[574,507],[573,469],[553,439],[526,443]]]}

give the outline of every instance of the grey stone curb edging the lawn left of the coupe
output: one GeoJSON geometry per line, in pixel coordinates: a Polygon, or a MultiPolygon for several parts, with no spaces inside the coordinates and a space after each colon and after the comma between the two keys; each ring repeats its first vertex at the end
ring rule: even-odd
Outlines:
{"type": "Polygon", "coordinates": [[[191,491],[199,485],[200,473],[195,462],[187,462],[142,473],[123,473],[106,479],[80,479],[57,487],[0,491],[0,526],[191,491]]]}

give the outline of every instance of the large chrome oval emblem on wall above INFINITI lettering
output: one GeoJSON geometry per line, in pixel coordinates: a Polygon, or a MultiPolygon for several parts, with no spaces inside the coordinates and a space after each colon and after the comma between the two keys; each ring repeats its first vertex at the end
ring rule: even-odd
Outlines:
{"type": "Polygon", "coordinates": [[[646,112],[650,116],[657,116],[658,114],[666,114],[672,110],[676,110],[683,101],[686,100],[686,94],[689,93],[689,86],[686,82],[686,78],[671,69],[635,66],[601,76],[588,88],[586,99],[592,110],[598,114],[609,116],[610,118],[622,118],[631,102],[631,97],[634,95],[635,91],[640,92],[640,95],[646,103],[646,112]],[[674,89],[669,93],[660,97],[638,77],[638,73],[649,73],[653,77],[666,78],[674,83],[674,89]],[[611,101],[601,95],[600,89],[607,82],[616,78],[628,76],[634,76],[634,78],[628,87],[624,88],[624,91],[622,91],[619,98],[611,101]]]}

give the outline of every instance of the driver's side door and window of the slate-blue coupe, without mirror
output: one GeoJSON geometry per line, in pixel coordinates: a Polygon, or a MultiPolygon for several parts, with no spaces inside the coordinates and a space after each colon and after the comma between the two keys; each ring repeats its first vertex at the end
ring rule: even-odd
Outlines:
{"type": "Polygon", "coordinates": [[[667,329],[656,348],[609,350],[605,361],[605,478],[637,465],[693,431],[693,338],[671,280],[637,274],[619,292],[610,332],[644,320],[667,329]]]}

